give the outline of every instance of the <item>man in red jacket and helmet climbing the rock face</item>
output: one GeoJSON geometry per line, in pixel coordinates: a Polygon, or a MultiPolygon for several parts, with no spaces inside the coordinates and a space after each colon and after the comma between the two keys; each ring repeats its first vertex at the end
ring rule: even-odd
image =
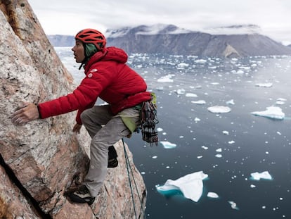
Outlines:
{"type": "Polygon", "coordinates": [[[71,201],[93,204],[105,180],[107,167],[116,167],[117,154],[112,146],[127,137],[141,123],[141,104],[152,99],[143,78],[126,64],[127,54],[116,47],[106,47],[101,32],[81,30],[72,47],[75,61],[84,67],[85,77],[72,94],[40,104],[23,103],[13,115],[15,125],[35,119],[77,112],[73,131],[82,124],[91,136],[91,160],[82,186],[68,196],[71,201]],[[96,106],[100,97],[108,105],[96,106]],[[109,151],[109,157],[108,157],[109,151]],[[110,157],[111,156],[111,157],[110,157]],[[109,162],[109,163],[108,163],[109,162]]]}

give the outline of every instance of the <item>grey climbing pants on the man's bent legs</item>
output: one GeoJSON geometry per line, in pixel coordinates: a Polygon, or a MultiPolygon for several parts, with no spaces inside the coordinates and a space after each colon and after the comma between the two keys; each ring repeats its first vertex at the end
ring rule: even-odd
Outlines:
{"type": "MultiPolygon", "coordinates": [[[[127,108],[120,112],[139,123],[139,111],[127,108]]],[[[120,116],[112,115],[110,106],[93,106],[81,114],[81,120],[91,136],[90,165],[84,179],[91,196],[95,197],[103,185],[107,174],[108,147],[127,137],[131,132],[122,122],[120,116]]]]}

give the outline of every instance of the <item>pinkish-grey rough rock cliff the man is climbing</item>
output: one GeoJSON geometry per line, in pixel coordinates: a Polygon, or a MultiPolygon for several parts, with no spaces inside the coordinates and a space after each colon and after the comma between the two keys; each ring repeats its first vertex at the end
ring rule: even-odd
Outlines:
{"type": "MultiPolygon", "coordinates": [[[[120,142],[119,166],[108,170],[95,203],[73,204],[65,192],[82,181],[89,164],[89,135],[84,128],[79,135],[72,132],[75,113],[11,123],[20,101],[37,104],[68,94],[75,85],[27,0],[0,0],[0,30],[0,218],[134,218],[120,142]]],[[[145,184],[130,153],[129,160],[139,217],[145,184]]]]}

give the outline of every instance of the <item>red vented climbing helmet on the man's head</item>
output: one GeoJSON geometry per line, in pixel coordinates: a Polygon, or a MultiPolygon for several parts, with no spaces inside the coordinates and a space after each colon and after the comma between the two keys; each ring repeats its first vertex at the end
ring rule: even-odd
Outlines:
{"type": "Polygon", "coordinates": [[[106,38],[98,30],[84,29],[77,33],[75,39],[81,40],[85,44],[94,44],[98,50],[103,50],[106,45],[106,38]]]}

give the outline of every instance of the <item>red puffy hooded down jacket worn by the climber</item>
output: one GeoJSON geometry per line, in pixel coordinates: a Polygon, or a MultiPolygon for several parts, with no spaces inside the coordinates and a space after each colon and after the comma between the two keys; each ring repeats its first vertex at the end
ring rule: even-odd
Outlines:
{"type": "Polygon", "coordinates": [[[122,49],[108,47],[97,52],[86,63],[86,77],[77,89],[72,94],[39,104],[40,117],[79,110],[76,121],[82,124],[81,113],[93,107],[98,96],[110,104],[113,114],[150,100],[145,81],[126,62],[127,54],[122,49]]]}

